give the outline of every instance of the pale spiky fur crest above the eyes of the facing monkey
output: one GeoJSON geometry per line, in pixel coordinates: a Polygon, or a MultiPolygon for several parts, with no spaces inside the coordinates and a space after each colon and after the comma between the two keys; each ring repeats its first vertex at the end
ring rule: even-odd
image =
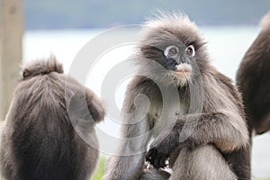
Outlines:
{"type": "MultiPolygon", "coordinates": [[[[153,18],[144,23],[141,44],[157,47],[162,42],[198,43],[201,47],[201,33],[195,23],[187,15],[181,13],[166,13],[158,11],[153,18]]],[[[158,48],[158,47],[157,47],[158,48]]]]}

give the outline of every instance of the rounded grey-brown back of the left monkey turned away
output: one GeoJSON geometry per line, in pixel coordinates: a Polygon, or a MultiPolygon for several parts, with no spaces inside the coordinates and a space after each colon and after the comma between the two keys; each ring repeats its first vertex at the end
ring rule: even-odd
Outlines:
{"type": "Polygon", "coordinates": [[[16,87],[2,135],[1,171],[6,179],[90,178],[97,162],[98,142],[94,125],[87,128],[93,131],[95,148],[72,126],[65,94],[78,93],[79,84],[68,84],[67,79],[51,72],[33,76],[16,87]]]}

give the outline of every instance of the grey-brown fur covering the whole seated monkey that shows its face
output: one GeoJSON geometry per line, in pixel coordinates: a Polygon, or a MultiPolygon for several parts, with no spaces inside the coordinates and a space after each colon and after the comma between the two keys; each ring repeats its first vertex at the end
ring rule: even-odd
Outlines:
{"type": "Polygon", "coordinates": [[[125,138],[143,136],[122,141],[118,155],[123,156],[110,157],[103,180],[139,179],[144,172],[143,151],[151,138],[154,142],[148,160],[160,167],[170,156],[172,180],[250,179],[249,139],[241,96],[230,79],[210,65],[205,42],[195,24],[185,15],[161,14],[146,23],[143,34],[135,58],[139,74],[144,76],[134,77],[126,91],[123,111],[133,115],[124,117],[129,125],[122,127],[125,138]],[[184,54],[185,47],[191,44],[196,49],[195,57],[184,54]],[[168,65],[169,60],[175,61],[164,57],[164,50],[170,45],[181,51],[177,63],[184,61],[193,67],[188,84],[179,82],[168,65]],[[146,58],[166,70],[158,69],[146,58]],[[164,95],[174,94],[175,89],[178,97],[171,95],[165,100],[164,95]],[[134,105],[138,94],[148,96],[150,109],[143,121],[136,122],[136,116],[145,111],[143,102],[139,102],[139,107],[134,105]],[[188,121],[186,116],[190,116],[188,121]],[[140,153],[128,156],[138,149],[140,153]],[[209,168],[203,167],[209,163],[204,157],[206,151],[213,163],[209,168]],[[211,170],[211,166],[215,169],[211,170]]]}

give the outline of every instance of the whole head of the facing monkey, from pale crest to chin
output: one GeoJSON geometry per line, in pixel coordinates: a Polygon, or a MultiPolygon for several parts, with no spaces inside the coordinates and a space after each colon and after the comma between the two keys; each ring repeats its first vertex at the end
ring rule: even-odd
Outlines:
{"type": "MultiPolygon", "coordinates": [[[[146,27],[140,45],[143,57],[155,60],[165,67],[166,75],[172,76],[177,85],[192,83],[208,63],[205,42],[195,24],[183,15],[165,15],[163,19],[157,18],[147,23],[146,27]]],[[[147,63],[143,64],[144,67],[145,65],[148,66],[147,63]]],[[[151,68],[156,70],[155,67],[148,66],[148,69],[151,68]]],[[[164,76],[160,73],[158,75],[164,76]]]]}

